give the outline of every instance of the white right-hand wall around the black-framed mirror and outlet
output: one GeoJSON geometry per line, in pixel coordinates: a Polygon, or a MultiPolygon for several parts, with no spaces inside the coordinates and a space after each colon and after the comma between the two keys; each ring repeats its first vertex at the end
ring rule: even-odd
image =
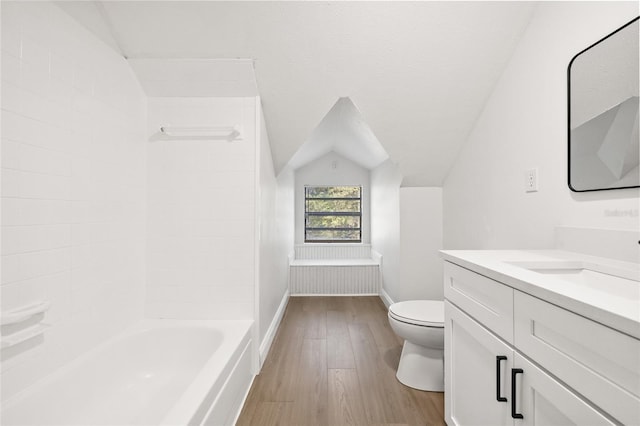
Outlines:
{"type": "Polygon", "coordinates": [[[567,66],[637,2],[542,2],[444,183],[444,246],[549,248],[554,227],[638,229],[638,190],[567,186],[567,66]],[[524,172],[538,168],[539,192],[524,172]]]}

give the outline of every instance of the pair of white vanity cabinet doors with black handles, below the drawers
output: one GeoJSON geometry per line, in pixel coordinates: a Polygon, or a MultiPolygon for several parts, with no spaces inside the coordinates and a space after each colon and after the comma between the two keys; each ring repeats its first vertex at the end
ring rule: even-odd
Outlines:
{"type": "Polygon", "coordinates": [[[615,424],[477,321],[445,303],[449,426],[615,424]]]}

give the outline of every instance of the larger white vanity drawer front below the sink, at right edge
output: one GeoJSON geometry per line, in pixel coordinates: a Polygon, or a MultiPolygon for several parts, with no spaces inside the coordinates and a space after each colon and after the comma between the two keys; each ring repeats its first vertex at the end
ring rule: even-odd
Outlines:
{"type": "Polygon", "coordinates": [[[640,340],[515,292],[515,346],[622,424],[640,425],[640,340]]]}

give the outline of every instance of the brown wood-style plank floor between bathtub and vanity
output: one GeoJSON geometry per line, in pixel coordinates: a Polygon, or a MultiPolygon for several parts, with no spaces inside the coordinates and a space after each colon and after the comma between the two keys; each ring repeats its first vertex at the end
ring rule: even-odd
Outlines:
{"type": "Polygon", "coordinates": [[[237,425],[444,425],[442,393],[402,385],[379,297],[291,297],[237,425]]]}

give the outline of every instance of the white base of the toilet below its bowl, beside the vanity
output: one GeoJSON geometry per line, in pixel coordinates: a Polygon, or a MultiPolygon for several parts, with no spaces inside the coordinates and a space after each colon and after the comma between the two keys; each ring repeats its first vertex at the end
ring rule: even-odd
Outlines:
{"type": "Polygon", "coordinates": [[[410,388],[444,392],[444,351],[405,340],[396,377],[410,388]]]}

